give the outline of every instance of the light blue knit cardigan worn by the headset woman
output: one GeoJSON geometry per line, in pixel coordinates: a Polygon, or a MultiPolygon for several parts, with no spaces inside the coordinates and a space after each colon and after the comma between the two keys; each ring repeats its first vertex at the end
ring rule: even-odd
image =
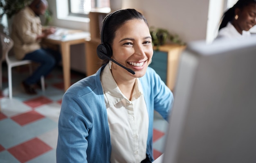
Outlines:
{"type": "MultiPolygon", "coordinates": [[[[110,163],[110,131],[100,81],[104,67],[73,84],[63,96],[58,121],[57,163],[110,163]]],[[[154,109],[168,120],[173,93],[150,67],[139,80],[149,116],[146,153],[153,161],[154,109]]]]}

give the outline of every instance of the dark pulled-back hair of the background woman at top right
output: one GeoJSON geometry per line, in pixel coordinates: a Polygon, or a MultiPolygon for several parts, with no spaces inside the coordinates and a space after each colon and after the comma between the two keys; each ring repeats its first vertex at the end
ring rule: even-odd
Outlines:
{"type": "Polygon", "coordinates": [[[256,3],[256,0],[238,0],[233,7],[228,9],[222,16],[222,22],[220,24],[220,28],[224,28],[227,26],[228,22],[231,22],[235,17],[235,9],[243,9],[243,7],[248,6],[249,4],[256,3]]]}

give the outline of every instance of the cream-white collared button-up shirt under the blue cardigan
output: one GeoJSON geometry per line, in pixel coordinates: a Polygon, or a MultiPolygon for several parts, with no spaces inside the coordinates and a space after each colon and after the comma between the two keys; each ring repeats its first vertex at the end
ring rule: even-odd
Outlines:
{"type": "Polygon", "coordinates": [[[108,66],[101,74],[101,85],[112,146],[110,162],[140,163],[146,158],[149,118],[139,79],[131,101],[120,91],[108,66]]]}

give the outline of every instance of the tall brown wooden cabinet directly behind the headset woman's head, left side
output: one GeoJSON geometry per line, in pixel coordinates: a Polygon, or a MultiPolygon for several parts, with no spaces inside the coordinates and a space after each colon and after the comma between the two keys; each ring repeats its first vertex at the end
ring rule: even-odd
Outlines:
{"type": "Polygon", "coordinates": [[[110,13],[109,8],[93,9],[89,13],[91,39],[85,41],[87,76],[97,72],[102,65],[102,60],[97,56],[97,46],[101,43],[102,21],[108,13],[110,13]]]}

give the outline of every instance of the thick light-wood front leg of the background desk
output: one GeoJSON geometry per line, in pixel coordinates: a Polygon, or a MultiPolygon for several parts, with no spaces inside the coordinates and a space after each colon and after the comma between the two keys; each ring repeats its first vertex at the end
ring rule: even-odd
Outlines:
{"type": "Polygon", "coordinates": [[[62,68],[63,68],[63,79],[64,79],[64,90],[70,87],[70,44],[61,43],[61,54],[62,54],[62,68]]]}

